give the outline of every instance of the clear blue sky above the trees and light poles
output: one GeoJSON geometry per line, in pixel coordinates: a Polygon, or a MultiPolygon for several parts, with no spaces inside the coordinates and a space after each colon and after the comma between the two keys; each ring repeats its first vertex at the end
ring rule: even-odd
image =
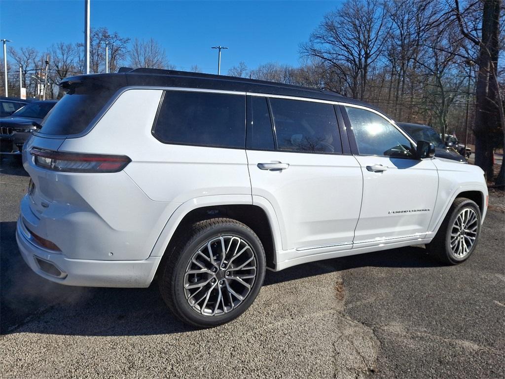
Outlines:
{"type": "MultiPolygon", "coordinates": [[[[221,70],[244,61],[249,68],[266,62],[296,65],[299,43],[341,1],[109,1],[91,0],[91,27],[109,28],[130,38],[155,38],[171,64],[188,70],[196,64],[215,72],[222,44],[221,70]]],[[[0,0],[0,38],[15,48],[43,52],[52,43],[80,42],[84,1],[0,0]]]]}

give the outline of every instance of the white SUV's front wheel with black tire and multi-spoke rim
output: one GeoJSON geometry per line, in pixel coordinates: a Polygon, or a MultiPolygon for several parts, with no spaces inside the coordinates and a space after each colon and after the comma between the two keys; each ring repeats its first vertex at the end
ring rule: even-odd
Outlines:
{"type": "Polygon", "coordinates": [[[470,199],[458,198],[452,203],[438,232],[433,240],[426,245],[426,249],[444,264],[457,265],[463,263],[474,252],[479,241],[480,229],[481,214],[479,206],[470,199]],[[466,218],[467,216],[468,218],[466,218]],[[472,222],[468,224],[470,220],[472,222]],[[465,222],[467,222],[467,225],[465,225],[465,222]],[[470,225],[470,227],[462,230],[458,225],[464,227],[470,225]],[[470,232],[470,229],[473,231],[470,232]],[[471,246],[469,246],[470,244],[471,246]]]}

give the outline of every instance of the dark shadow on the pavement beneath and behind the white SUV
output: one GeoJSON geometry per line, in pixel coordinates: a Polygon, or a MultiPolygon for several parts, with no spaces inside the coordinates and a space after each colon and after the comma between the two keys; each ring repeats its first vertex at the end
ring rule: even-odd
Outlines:
{"type": "MultiPolygon", "coordinates": [[[[15,241],[15,222],[2,222],[2,334],[18,331],[78,336],[143,336],[193,330],[161,300],[156,281],[147,289],[67,287],[34,274],[15,241]]],[[[425,250],[410,247],[267,271],[264,286],[354,267],[430,267],[425,250]]],[[[261,296],[261,294],[260,294],[261,296]]]]}

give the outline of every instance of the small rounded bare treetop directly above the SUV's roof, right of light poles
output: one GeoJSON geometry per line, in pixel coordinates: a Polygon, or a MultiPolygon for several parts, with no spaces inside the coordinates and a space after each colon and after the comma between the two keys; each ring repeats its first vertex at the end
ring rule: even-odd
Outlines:
{"type": "Polygon", "coordinates": [[[132,43],[130,52],[130,66],[133,68],[172,68],[168,62],[165,49],[154,39],[140,41],[137,38],[132,43]]]}

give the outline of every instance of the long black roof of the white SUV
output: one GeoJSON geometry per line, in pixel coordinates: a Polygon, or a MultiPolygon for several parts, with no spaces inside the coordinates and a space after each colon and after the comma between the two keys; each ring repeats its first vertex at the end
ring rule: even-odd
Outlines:
{"type": "Polygon", "coordinates": [[[336,92],[323,89],[302,87],[298,85],[276,83],[257,79],[237,78],[234,76],[204,74],[197,72],[137,68],[134,70],[121,68],[119,73],[79,75],[62,80],[63,88],[70,87],[75,82],[99,82],[110,89],[130,85],[160,86],[160,87],[190,87],[202,89],[217,89],[238,92],[257,92],[296,96],[349,104],[364,105],[376,109],[370,104],[350,99],[336,92]]]}

